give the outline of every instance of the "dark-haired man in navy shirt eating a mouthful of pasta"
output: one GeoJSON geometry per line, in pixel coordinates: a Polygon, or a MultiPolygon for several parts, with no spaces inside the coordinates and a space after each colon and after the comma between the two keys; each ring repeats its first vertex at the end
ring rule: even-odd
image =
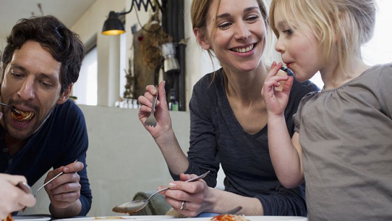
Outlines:
{"type": "Polygon", "coordinates": [[[45,172],[51,214],[86,215],[91,207],[84,116],[68,100],[83,60],[83,44],[53,16],[21,19],[4,49],[0,101],[0,172],[26,176],[33,185],[45,172]],[[76,161],[77,160],[77,161],[76,161]]]}

